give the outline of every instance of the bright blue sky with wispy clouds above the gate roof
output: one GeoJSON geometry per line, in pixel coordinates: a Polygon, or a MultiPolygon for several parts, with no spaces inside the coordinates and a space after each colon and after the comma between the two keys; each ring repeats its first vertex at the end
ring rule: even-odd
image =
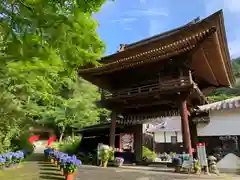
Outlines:
{"type": "Polygon", "coordinates": [[[95,15],[106,54],[223,9],[230,54],[240,56],[240,0],[115,0],[95,15]]]}

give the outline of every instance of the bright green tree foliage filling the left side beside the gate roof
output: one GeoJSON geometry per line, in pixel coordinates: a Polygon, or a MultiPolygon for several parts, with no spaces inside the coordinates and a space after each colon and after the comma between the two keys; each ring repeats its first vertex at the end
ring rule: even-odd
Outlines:
{"type": "Polygon", "coordinates": [[[0,144],[7,133],[10,142],[19,128],[36,121],[63,134],[68,126],[98,120],[97,89],[80,79],[77,70],[98,64],[104,53],[92,17],[104,2],[0,2],[0,144]]]}

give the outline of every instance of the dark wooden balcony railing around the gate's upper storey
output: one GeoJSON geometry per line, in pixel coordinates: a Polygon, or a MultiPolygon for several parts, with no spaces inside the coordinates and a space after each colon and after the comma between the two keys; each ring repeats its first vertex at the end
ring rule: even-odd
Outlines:
{"type": "Polygon", "coordinates": [[[133,96],[149,94],[153,92],[163,92],[172,89],[184,88],[190,86],[191,84],[192,84],[191,78],[181,77],[178,79],[166,80],[155,84],[144,85],[135,88],[127,88],[112,93],[103,91],[103,98],[104,99],[128,98],[133,96]]]}

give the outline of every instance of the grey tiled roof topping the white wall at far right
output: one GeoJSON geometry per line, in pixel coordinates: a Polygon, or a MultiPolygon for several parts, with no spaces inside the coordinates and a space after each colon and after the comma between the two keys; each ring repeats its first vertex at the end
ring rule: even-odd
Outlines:
{"type": "Polygon", "coordinates": [[[226,99],[224,101],[218,101],[211,104],[206,104],[203,106],[198,106],[200,111],[219,111],[224,109],[234,109],[240,107],[240,96],[231,99],[226,99]]]}

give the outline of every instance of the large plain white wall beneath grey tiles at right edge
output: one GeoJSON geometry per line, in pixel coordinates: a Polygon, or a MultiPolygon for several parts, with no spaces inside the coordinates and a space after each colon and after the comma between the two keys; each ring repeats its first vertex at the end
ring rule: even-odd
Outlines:
{"type": "Polygon", "coordinates": [[[240,135],[240,109],[210,112],[209,124],[198,124],[198,136],[240,135]]]}

